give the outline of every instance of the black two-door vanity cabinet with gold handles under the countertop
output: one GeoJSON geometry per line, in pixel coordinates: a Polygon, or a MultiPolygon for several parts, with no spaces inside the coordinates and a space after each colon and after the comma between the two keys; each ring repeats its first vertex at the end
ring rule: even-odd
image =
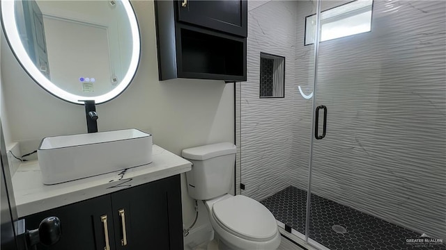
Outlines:
{"type": "Polygon", "coordinates": [[[105,250],[107,236],[110,250],[183,249],[179,175],[29,215],[26,229],[49,216],[61,220],[61,239],[37,249],[105,250]]]}

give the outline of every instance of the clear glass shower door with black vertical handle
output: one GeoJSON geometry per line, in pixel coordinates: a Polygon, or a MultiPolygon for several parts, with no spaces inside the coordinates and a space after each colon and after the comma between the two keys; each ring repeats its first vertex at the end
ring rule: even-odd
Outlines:
{"type": "Polygon", "coordinates": [[[344,3],[306,18],[317,46],[309,242],[445,249],[446,2],[344,3]]]}

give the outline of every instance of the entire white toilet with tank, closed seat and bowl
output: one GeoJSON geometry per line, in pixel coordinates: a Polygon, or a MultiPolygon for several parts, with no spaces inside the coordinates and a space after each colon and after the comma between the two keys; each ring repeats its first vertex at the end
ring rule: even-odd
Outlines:
{"type": "Polygon", "coordinates": [[[268,208],[249,197],[228,194],[235,145],[223,142],[183,149],[182,156],[193,164],[187,172],[189,195],[206,204],[220,250],[279,247],[280,233],[268,208]]]}

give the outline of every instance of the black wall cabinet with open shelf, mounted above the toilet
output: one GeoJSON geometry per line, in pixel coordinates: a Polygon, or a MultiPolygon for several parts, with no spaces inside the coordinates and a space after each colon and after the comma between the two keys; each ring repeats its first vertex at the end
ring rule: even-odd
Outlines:
{"type": "Polygon", "coordinates": [[[247,1],[155,1],[160,80],[246,81],[247,1]]]}

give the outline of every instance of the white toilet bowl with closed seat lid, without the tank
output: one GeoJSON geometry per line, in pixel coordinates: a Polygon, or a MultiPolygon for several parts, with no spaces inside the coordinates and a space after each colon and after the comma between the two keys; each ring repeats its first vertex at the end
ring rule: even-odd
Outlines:
{"type": "Polygon", "coordinates": [[[205,201],[219,250],[277,249],[280,233],[275,217],[258,201],[243,195],[205,201]]]}

